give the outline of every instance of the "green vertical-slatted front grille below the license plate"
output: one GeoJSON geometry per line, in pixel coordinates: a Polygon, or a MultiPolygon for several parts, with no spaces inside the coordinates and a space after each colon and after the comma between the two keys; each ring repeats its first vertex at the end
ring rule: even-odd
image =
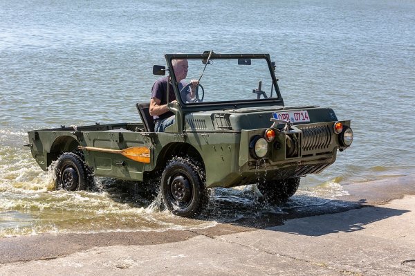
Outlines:
{"type": "Polygon", "coordinates": [[[302,149],[312,151],[328,149],[331,144],[331,128],[328,125],[299,127],[302,130],[302,149]]]}

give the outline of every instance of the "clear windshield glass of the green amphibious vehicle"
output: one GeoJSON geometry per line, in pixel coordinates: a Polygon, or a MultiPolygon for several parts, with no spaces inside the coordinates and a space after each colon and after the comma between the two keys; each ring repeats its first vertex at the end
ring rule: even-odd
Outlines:
{"type": "MultiPolygon", "coordinates": [[[[185,104],[260,101],[277,98],[273,78],[264,58],[187,59],[185,79],[178,84],[185,104]],[[199,80],[197,89],[192,80],[199,80]]],[[[173,62],[174,63],[174,62],[173,62]]],[[[181,69],[176,69],[178,75],[181,69]]]]}

